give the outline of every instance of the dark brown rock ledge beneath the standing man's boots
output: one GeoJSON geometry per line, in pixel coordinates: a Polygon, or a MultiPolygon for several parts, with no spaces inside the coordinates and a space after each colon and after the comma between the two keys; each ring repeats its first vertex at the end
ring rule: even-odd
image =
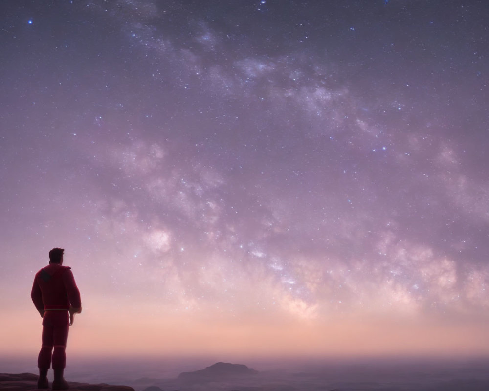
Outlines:
{"type": "MultiPolygon", "coordinates": [[[[2,391],[34,391],[37,388],[37,375],[33,373],[0,373],[0,390],[2,391]]],[[[112,386],[105,383],[89,384],[69,382],[70,391],[134,391],[127,386],[112,386]]],[[[51,387],[51,382],[49,382],[51,387]]],[[[42,391],[46,391],[45,389],[42,391]]]]}

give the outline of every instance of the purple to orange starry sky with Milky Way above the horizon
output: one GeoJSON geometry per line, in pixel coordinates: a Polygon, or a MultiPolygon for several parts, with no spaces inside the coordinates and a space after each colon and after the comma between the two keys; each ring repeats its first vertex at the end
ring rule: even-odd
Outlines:
{"type": "Polygon", "coordinates": [[[489,354],[486,1],[0,7],[0,354],[489,354]]]}

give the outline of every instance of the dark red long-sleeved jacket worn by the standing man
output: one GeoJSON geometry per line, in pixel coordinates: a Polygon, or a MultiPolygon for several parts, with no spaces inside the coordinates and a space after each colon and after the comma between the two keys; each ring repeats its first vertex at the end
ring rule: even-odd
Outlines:
{"type": "Polygon", "coordinates": [[[80,291],[68,266],[50,263],[36,273],[31,298],[38,309],[69,309],[82,306],[80,291]]]}

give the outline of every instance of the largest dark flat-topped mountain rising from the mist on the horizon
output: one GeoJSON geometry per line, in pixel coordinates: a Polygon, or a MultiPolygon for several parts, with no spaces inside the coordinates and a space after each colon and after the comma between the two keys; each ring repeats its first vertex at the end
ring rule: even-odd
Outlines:
{"type": "Polygon", "coordinates": [[[252,376],[257,373],[257,370],[248,368],[243,364],[216,363],[205,369],[182,372],[178,375],[178,379],[191,382],[218,381],[235,377],[252,376]]]}

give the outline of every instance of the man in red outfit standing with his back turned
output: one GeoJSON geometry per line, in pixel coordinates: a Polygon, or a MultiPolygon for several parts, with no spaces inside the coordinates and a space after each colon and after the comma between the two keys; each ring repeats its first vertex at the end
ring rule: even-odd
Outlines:
{"type": "Polygon", "coordinates": [[[32,285],[31,298],[43,318],[43,344],[37,361],[37,387],[49,388],[47,371],[53,364],[53,390],[67,390],[63,377],[66,342],[75,314],[82,312],[80,291],[71,268],[63,265],[63,248],[49,251],[49,265],[39,270],[32,285]],[[69,316],[69,318],[68,318],[69,316]],[[54,352],[52,352],[54,348],[54,352]]]}

